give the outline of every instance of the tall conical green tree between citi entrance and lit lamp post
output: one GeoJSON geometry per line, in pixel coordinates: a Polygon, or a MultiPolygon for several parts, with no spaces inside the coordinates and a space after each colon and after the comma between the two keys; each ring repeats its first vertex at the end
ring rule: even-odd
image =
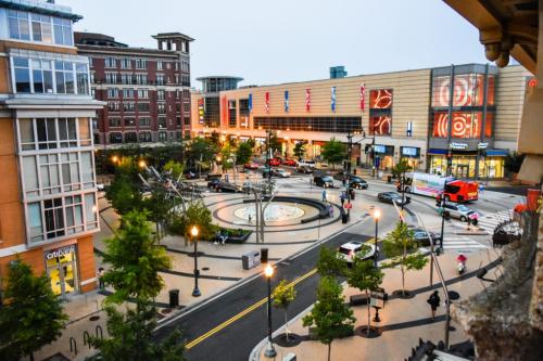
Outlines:
{"type": "Polygon", "coordinates": [[[156,297],[164,286],[159,272],[172,268],[166,250],[151,237],[147,217],[147,211],[128,212],[122,218],[124,227],[113,238],[105,240],[103,260],[111,268],[103,280],[115,289],[108,296],[113,302],[122,302],[129,297],[156,297]]]}

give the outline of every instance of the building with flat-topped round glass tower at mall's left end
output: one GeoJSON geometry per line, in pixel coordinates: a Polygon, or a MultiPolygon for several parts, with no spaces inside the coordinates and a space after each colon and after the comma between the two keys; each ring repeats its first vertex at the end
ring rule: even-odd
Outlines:
{"type": "MultiPolygon", "coordinates": [[[[225,90],[238,89],[238,82],[243,80],[239,77],[229,76],[210,76],[197,78],[197,80],[202,82],[202,91],[192,91],[192,119],[199,125],[199,127],[210,127],[219,128],[220,127],[220,106],[224,106],[224,112],[228,112],[229,105],[222,102],[219,99],[219,92],[225,90]]],[[[236,107],[233,107],[236,109],[236,107]]],[[[237,113],[232,113],[232,118],[237,116],[237,113]]],[[[232,120],[235,121],[235,120],[232,120]]]]}

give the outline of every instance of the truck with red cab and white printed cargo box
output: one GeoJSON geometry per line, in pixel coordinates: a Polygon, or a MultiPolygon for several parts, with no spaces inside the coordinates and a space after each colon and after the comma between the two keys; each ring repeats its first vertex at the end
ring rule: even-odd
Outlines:
{"type": "MultiPolygon", "coordinates": [[[[396,182],[399,192],[402,192],[402,182],[396,182]]],[[[444,196],[446,201],[456,203],[477,201],[479,198],[479,184],[473,181],[455,179],[454,177],[441,177],[413,172],[405,177],[404,191],[407,193],[427,195],[437,198],[444,196]]]]}

